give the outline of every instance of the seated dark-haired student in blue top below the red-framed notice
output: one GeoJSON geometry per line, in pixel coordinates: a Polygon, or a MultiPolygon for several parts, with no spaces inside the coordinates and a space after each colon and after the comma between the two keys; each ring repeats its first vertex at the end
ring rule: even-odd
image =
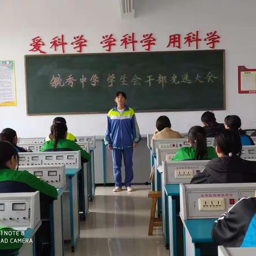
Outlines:
{"type": "Polygon", "coordinates": [[[225,117],[225,128],[233,131],[238,131],[241,137],[242,146],[254,145],[252,138],[241,129],[241,119],[236,115],[229,115],[225,117]]]}

